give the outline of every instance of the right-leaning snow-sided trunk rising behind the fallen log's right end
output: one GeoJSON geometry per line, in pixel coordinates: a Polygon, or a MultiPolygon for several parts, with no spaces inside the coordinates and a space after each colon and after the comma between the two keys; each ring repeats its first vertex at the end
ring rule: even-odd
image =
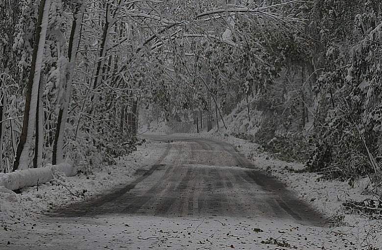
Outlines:
{"type": "Polygon", "coordinates": [[[76,62],[76,53],[79,44],[79,34],[81,30],[81,22],[82,16],[84,13],[86,1],[82,1],[80,5],[77,6],[74,19],[72,24],[71,36],[69,39],[69,47],[68,47],[68,59],[69,59],[69,70],[66,75],[66,84],[65,84],[65,94],[64,101],[60,106],[60,110],[58,112],[58,119],[56,125],[56,131],[54,134],[54,142],[53,142],[53,152],[52,152],[52,164],[60,164],[64,161],[64,133],[65,133],[65,125],[68,117],[68,106],[71,99],[72,93],[72,80],[73,73],[75,69],[76,62]]]}

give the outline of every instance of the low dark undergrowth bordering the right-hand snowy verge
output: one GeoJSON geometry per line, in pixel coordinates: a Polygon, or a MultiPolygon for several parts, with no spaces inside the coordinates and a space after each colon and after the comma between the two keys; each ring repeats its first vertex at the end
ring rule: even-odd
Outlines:
{"type": "MultiPolygon", "coordinates": [[[[324,179],[348,181],[349,185],[359,177],[375,178],[372,177],[373,171],[367,157],[357,150],[350,150],[351,147],[338,147],[339,138],[335,141],[332,140],[334,138],[322,140],[301,132],[282,133],[269,131],[269,128],[259,129],[256,134],[231,135],[259,144],[262,150],[277,159],[305,164],[305,168],[298,172],[319,173],[324,179]]],[[[341,142],[344,145],[348,144],[344,138],[341,142]]]]}

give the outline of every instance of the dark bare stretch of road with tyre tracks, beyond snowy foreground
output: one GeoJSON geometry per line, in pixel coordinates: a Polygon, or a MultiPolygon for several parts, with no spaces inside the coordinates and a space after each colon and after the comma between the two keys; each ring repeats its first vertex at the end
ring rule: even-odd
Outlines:
{"type": "Polygon", "coordinates": [[[146,136],[167,150],[157,164],[140,170],[133,183],[91,202],[55,211],[56,216],[110,213],[182,216],[289,218],[318,225],[319,215],[283,184],[256,170],[224,142],[146,136]]]}

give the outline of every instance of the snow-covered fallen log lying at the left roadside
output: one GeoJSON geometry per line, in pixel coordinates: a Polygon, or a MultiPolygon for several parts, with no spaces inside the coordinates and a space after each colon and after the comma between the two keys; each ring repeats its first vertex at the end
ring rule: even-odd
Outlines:
{"type": "Polygon", "coordinates": [[[75,169],[69,163],[59,165],[48,164],[43,168],[26,169],[8,174],[0,174],[0,186],[9,190],[18,190],[24,187],[36,186],[46,183],[54,178],[54,173],[63,172],[66,176],[76,175],[75,169]]]}

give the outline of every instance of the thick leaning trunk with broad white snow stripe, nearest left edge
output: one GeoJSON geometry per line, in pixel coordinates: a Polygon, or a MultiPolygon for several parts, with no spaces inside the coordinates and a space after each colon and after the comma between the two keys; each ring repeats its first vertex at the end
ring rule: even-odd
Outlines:
{"type": "Polygon", "coordinates": [[[48,14],[51,0],[41,0],[39,16],[36,24],[35,45],[32,54],[28,83],[26,86],[23,128],[17,146],[13,171],[27,169],[29,165],[29,151],[35,130],[37,95],[40,83],[44,46],[48,27],[48,14]]]}

